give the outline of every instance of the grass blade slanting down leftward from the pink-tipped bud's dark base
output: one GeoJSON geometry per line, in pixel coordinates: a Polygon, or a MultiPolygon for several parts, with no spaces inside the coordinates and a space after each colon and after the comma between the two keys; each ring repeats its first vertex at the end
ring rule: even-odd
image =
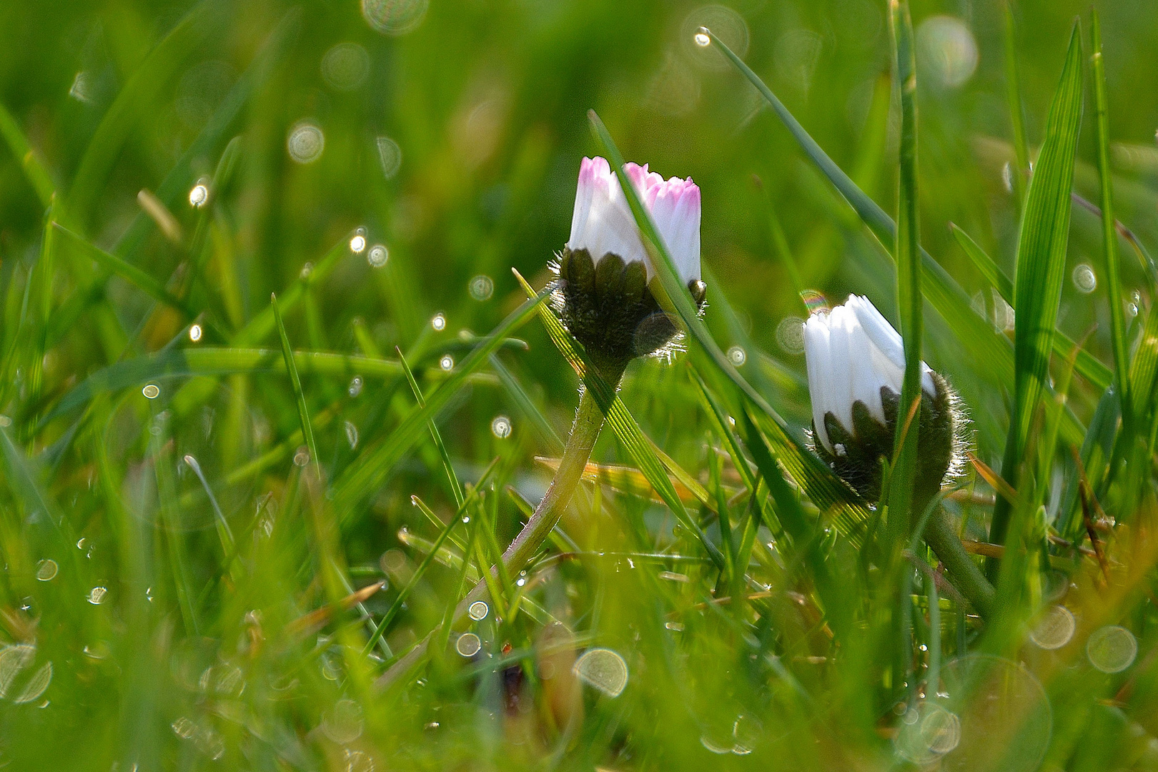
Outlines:
{"type": "Polygon", "coordinates": [[[340,513],[343,522],[349,522],[361,512],[359,502],[381,484],[394,465],[413,446],[426,428],[426,421],[446,406],[468,376],[489,361],[503,340],[529,319],[549,294],[540,293],[512,311],[490,336],[479,340],[470,354],[455,366],[450,376],[426,397],[425,407],[416,406],[389,436],[368,447],[343,472],[334,486],[335,512],[340,513]]]}

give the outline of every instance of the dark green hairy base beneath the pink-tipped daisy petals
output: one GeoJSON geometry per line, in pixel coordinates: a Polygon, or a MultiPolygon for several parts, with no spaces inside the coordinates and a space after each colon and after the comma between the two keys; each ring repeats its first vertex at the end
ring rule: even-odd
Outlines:
{"type": "MultiPolygon", "coordinates": [[[[625,366],[672,343],[679,331],[647,287],[647,269],[639,260],[624,265],[618,255],[592,259],[586,249],[564,249],[559,255],[556,285],[559,316],[584,345],[595,365],[625,366]]],[[[697,307],[703,307],[706,285],[688,282],[697,307]]]]}

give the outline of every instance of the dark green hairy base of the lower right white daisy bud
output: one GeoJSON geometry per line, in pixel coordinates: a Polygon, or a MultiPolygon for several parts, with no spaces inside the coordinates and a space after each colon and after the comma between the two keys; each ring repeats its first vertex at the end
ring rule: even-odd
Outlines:
{"type": "MultiPolygon", "coordinates": [[[[954,462],[957,448],[954,395],[937,373],[931,373],[937,394],[932,398],[924,391],[921,397],[917,435],[917,466],[913,477],[915,502],[931,499],[940,490],[950,466],[954,462]]],[[[851,432],[831,412],[824,413],[824,429],[833,444],[831,453],[821,442],[815,443],[816,454],[844,481],[868,499],[877,501],[881,488],[881,459],[892,459],[893,438],[896,433],[897,407],[901,396],[888,387],[880,388],[885,409],[881,424],[860,400],[852,404],[851,432]]],[[[906,413],[908,411],[904,411],[906,413]]],[[[816,426],[813,424],[813,435],[816,426]]]]}

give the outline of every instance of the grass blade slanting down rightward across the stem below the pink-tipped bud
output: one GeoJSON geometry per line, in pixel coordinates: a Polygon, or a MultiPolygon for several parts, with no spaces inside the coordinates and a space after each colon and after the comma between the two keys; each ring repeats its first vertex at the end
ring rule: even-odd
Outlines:
{"type": "MultiPolygon", "coordinates": [[[[528,296],[533,295],[535,291],[532,289],[522,275],[515,272],[515,277],[522,285],[523,292],[528,296]]],[[[579,374],[586,388],[591,390],[600,410],[603,411],[607,422],[611,426],[620,442],[623,443],[624,449],[636,462],[636,465],[639,466],[639,471],[647,478],[652,490],[659,494],[660,499],[675,514],[680,523],[696,535],[716,565],[724,568],[724,554],[719,551],[719,547],[712,544],[703,529],[688,514],[683,501],[672,484],[672,479],[664,469],[664,464],[660,462],[659,456],[655,455],[651,441],[644,435],[636,419],[628,412],[623,400],[615,395],[611,387],[599,376],[595,369],[588,366],[579,343],[567,332],[566,328],[563,326],[563,323],[548,306],[544,304],[540,308],[540,316],[543,319],[543,325],[547,328],[548,334],[551,337],[551,341],[558,347],[559,353],[567,360],[567,363],[579,374]]],[[[702,486],[697,487],[702,490],[702,486]]],[[[704,495],[706,498],[706,492],[704,495]]]]}

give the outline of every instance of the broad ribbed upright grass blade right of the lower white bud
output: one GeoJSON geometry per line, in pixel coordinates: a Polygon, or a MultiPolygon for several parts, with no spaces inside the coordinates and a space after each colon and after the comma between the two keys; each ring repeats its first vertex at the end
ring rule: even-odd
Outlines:
{"type": "MultiPolygon", "coordinates": [[[[1033,422],[1034,411],[1048,378],[1049,354],[1065,274],[1065,250],[1070,229],[1070,191],[1073,160],[1082,125],[1082,38],[1075,22],[1061,81],[1046,123],[1046,140],[1038,156],[1018,241],[1017,275],[1013,282],[1014,398],[1006,439],[1002,477],[1017,487],[1018,469],[1033,422]]],[[[1010,506],[998,499],[989,541],[1003,544],[1010,506]]]]}

